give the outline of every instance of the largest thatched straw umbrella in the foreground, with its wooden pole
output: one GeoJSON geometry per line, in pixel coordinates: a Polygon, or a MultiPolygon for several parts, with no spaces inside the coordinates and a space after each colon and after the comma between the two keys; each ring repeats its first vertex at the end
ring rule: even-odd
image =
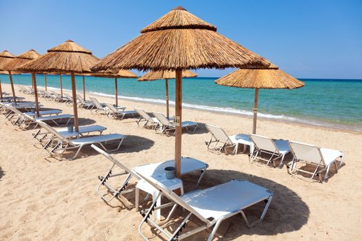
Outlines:
{"type": "Polygon", "coordinates": [[[217,28],[177,7],[141,30],[141,35],[99,61],[92,70],[176,71],[176,175],[181,170],[182,70],[263,68],[270,62],[217,33],[217,28]]]}

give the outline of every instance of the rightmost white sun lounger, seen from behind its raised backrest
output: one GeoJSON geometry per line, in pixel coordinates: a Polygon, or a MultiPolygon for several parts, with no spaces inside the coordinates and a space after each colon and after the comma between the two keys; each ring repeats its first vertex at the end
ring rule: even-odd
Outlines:
{"type": "Polygon", "coordinates": [[[297,143],[294,141],[289,142],[290,149],[293,154],[293,160],[290,165],[290,174],[297,175],[299,172],[310,174],[310,179],[315,176],[319,177],[320,182],[327,180],[330,166],[334,164],[336,171],[343,165],[344,153],[342,151],[320,148],[314,145],[305,143],[297,143]],[[339,160],[340,164],[337,166],[336,161],[339,160]],[[297,167],[299,163],[305,165],[312,165],[315,167],[314,171],[308,171],[297,167]],[[322,178],[322,172],[325,171],[325,176],[322,178]]]}

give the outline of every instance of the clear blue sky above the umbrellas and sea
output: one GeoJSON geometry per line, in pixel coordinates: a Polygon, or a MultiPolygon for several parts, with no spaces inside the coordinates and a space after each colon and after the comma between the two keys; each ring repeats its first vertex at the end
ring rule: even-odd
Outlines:
{"type": "Polygon", "coordinates": [[[362,0],[0,0],[0,50],[44,54],[72,39],[103,57],[179,5],[297,78],[362,78],[362,0]]]}

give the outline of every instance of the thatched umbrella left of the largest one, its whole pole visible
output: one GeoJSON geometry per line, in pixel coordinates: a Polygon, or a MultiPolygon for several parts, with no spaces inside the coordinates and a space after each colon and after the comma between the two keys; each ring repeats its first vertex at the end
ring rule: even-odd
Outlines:
{"type": "Polygon", "coordinates": [[[19,70],[32,72],[32,78],[36,84],[35,72],[57,74],[68,74],[72,78],[72,97],[74,110],[74,129],[79,131],[77,93],[75,88],[75,74],[90,72],[90,66],[97,63],[99,59],[92,55],[92,52],[82,48],[71,40],[68,40],[54,48],[48,50],[48,53],[30,61],[26,65],[19,67],[19,70]]]}

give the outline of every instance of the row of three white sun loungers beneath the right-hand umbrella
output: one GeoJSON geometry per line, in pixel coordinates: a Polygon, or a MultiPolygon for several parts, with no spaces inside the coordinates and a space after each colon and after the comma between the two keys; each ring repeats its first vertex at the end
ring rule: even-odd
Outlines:
{"type": "Polygon", "coordinates": [[[226,148],[231,148],[232,153],[237,154],[238,146],[243,145],[249,147],[252,162],[263,161],[265,165],[273,163],[274,167],[282,167],[285,156],[291,153],[293,158],[288,163],[288,171],[292,175],[302,172],[309,174],[310,179],[318,176],[322,182],[328,179],[331,165],[335,166],[336,171],[343,165],[344,154],[342,151],[290,140],[275,140],[254,134],[228,136],[223,129],[214,125],[206,125],[206,128],[212,134],[207,143],[209,150],[221,152],[225,151],[226,148]],[[279,161],[279,165],[277,165],[277,161],[279,161]],[[303,169],[301,165],[312,165],[314,169],[308,171],[308,169],[303,169]],[[322,178],[323,172],[325,172],[324,178],[322,178]]]}

